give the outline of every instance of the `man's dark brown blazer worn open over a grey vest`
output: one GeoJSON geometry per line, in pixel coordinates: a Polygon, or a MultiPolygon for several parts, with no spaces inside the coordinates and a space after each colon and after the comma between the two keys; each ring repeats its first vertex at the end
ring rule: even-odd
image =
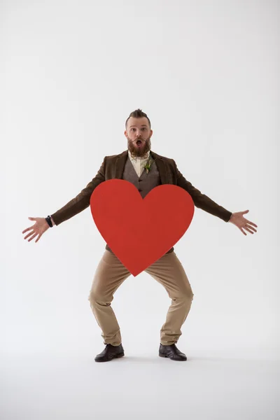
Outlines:
{"type": "MultiPolygon", "coordinates": [[[[200,193],[200,190],[197,190],[197,188],[183,177],[173,159],[165,158],[153,151],[150,151],[150,153],[158,167],[158,172],[160,172],[162,184],[173,184],[174,186],[183,188],[193,198],[195,207],[207,211],[207,213],[213,214],[213,216],[217,216],[225,222],[230,220],[232,213],[216,204],[207,195],[200,193]]],[[[99,171],[92,181],[73,200],[50,215],[55,221],[55,224],[59,225],[89,207],[92,191],[99,183],[108,179],[122,179],[127,155],[128,151],[126,150],[120,153],[120,155],[105,156],[99,171]]]]}

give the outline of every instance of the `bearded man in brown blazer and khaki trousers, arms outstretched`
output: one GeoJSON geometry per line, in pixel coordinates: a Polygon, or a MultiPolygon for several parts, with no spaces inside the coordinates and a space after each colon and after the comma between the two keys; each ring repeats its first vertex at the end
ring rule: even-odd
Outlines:
{"type": "MultiPolygon", "coordinates": [[[[120,155],[106,156],[97,175],[62,209],[48,216],[48,218],[29,217],[31,221],[36,221],[36,223],[22,232],[31,230],[25,239],[30,237],[29,241],[31,241],[38,235],[37,242],[49,227],[59,225],[89,207],[90,196],[94,188],[99,183],[109,179],[125,179],[132,182],[143,198],[152,188],[160,184],[169,183],[179,186],[190,194],[196,207],[221,218],[225,222],[233,223],[244,235],[246,235],[244,230],[250,233],[256,232],[253,226],[257,228],[257,225],[243,216],[248,213],[248,210],[231,213],[219,206],[207,195],[200,193],[200,190],[197,190],[183,177],[173,159],[165,158],[151,151],[153,130],[151,130],[151,121],[146,113],[140,109],[132,112],[126,120],[125,129],[127,150],[120,155]],[[148,170],[144,170],[145,167],[148,170]]],[[[179,351],[176,343],[182,333],[181,326],[190,311],[193,290],[190,287],[186,272],[174,252],[174,247],[145,269],[145,272],[160,282],[172,299],[166,321],[160,330],[159,356],[172,360],[187,360],[186,354],[179,351]]],[[[104,351],[94,359],[97,362],[120,358],[125,354],[120,327],[111,307],[111,302],[117,288],[130,274],[106,244],[106,250],[97,266],[88,297],[92,312],[102,329],[104,344],[106,344],[104,351]]]]}

